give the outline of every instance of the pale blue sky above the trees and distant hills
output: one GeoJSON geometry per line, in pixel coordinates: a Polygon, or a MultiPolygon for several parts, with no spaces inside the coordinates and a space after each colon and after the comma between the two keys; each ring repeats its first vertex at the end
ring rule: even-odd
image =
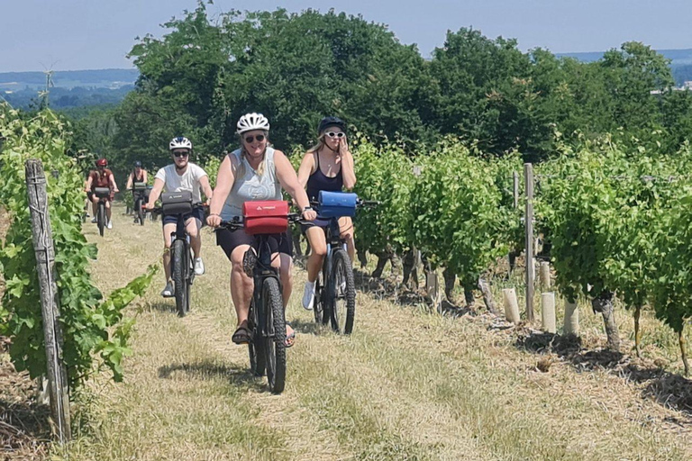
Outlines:
{"type": "MultiPolygon", "coordinates": [[[[523,50],[602,51],[633,40],[658,50],[692,48],[689,0],[215,0],[208,10],[278,6],[362,14],[425,56],[447,30],[469,26],[492,38],[514,37],[523,50]]],[[[196,0],[0,0],[0,72],[132,68],[125,55],[135,37],[160,36],[160,23],[195,7],[196,0]]]]}

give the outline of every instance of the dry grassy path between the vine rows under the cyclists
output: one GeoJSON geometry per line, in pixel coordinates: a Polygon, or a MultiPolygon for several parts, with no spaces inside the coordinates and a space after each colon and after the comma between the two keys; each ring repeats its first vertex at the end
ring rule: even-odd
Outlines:
{"type": "MultiPolygon", "coordinates": [[[[93,271],[108,292],[161,251],[159,224],[115,217],[93,271]]],[[[689,459],[690,425],[623,379],[570,366],[534,371],[535,356],[467,318],[431,315],[358,294],[350,338],[316,328],[299,307],[287,390],[266,392],[232,345],[230,267],[205,233],[207,275],[179,319],[159,297],[142,302],[125,382],[97,380],[77,440],[57,457],[125,459],[689,459]]]]}

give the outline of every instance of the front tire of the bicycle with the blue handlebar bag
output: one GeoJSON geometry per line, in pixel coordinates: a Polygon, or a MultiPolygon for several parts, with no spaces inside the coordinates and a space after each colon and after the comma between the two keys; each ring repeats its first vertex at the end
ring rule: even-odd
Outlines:
{"type": "Polygon", "coordinates": [[[349,335],[353,331],[353,321],[356,316],[356,284],[353,278],[351,259],[342,249],[333,254],[332,264],[333,298],[332,298],[332,329],[341,334],[349,335]]]}

